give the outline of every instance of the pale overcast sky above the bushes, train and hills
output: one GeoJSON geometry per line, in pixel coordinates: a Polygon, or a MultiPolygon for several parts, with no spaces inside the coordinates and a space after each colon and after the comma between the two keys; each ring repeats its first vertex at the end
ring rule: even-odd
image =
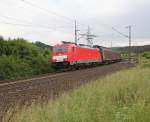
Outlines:
{"type": "MultiPolygon", "coordinates": [[[[150,44],[149,0],[0,0],[0,35],[54,45],[74,42],[74,20],[79,34],[97,35],[94,44],[127,46],[132,26],[132,45],[150,44]]],[[[80,38],[80,35],[78,37],[80,38]]],[[[81,38],[78,43],[86,44],[81,38]]]]}

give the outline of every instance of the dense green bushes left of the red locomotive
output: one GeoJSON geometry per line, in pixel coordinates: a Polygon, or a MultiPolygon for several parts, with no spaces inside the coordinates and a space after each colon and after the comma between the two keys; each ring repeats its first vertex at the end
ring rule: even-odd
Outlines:
{"type": "Polygon", "coordinates": [[[52,70],[50,49],[40,48],[24,39],[0,38],[0,80],[18,79],[52,70]]]}

